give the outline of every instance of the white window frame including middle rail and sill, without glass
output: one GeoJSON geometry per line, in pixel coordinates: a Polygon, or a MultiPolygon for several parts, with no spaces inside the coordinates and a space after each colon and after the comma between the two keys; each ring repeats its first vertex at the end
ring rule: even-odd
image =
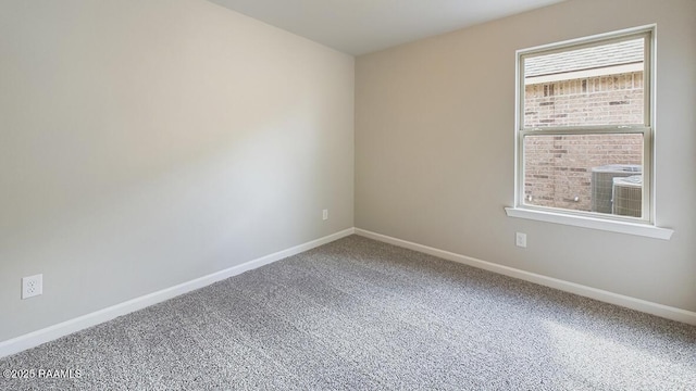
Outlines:
{"type": "Polygon", "coordinates": [[[515,175],[514,206],[506,207],[511,217],[564,224],[621,234],[670,239],[673,230],[659,228],[655,213],[655,41],[656,26],[642,26],[592,37],[522,49],[515,52],[515,175]],[[524,127],[524,59],[568,50],[611,43],[631,38],[645,38],[644,55],[644,123],[630,125],[524,127]],[[596,212],[572,211],[524,203],[524,137],[529,135],[643,135],[643,213],[642,217],[618,216],[596,212]]]}

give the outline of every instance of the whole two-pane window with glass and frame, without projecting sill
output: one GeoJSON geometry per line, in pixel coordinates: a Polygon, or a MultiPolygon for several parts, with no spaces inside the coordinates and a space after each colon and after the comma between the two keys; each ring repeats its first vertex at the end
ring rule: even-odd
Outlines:
{"type": "Polygon", "coordinates": [[[654,223],[652,36],[518,52],[515,210],[654,223]]]}

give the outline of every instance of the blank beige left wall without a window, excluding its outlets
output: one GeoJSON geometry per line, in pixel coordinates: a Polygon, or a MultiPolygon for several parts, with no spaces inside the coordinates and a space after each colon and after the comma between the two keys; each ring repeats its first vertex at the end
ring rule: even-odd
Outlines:
{"type": "Polygon", "coordinates": [[[0,341],[352,227],[353,63],[203,0],[0,2],[0,341]]]}

